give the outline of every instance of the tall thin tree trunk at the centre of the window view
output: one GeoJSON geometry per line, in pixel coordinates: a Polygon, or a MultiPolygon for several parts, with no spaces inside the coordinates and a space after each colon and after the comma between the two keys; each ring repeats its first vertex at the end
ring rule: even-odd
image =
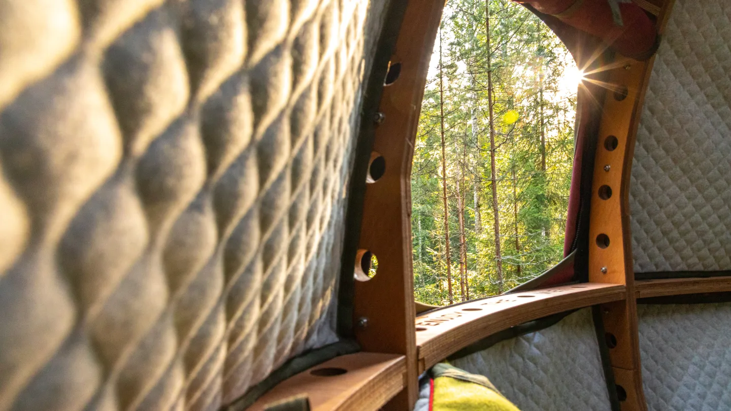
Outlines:
{"type": "Polygon", "coordinates": [[[490,7],[485,2],[485,37],[488,50],[488,113],[490,115],[490,181],[493,189],[493,216],[495,219],[495,262],[498,279],[498,292],[503,292],[502,255],[500,252],[500,212],[498,204],[497,173],[495,169],[495,116],[493,112],[493,67],[491,65],[493,50],[490,45],[490,7]]]}

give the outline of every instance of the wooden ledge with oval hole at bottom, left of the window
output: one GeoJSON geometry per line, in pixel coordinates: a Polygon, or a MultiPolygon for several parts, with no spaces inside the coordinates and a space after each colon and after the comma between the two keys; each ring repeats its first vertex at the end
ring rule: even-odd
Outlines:
{"type": "Polygon", "coordinates": [[[376,352],[342,355],[281,382],[249,410],[307,396],[310,409],[379,410],[404,388],[406,357],[376,352]]]}

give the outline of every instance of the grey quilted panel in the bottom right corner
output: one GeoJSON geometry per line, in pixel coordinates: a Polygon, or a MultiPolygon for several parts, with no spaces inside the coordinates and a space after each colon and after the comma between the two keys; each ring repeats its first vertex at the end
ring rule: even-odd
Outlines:
{"type": "Polygon", "coordinates": [[[637,306],[651,411],[731,410],[731,303],[637,306]]]}

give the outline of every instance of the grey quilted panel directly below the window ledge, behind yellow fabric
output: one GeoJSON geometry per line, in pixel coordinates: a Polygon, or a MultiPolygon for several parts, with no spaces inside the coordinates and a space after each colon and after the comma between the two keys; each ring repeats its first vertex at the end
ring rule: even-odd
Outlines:
{"type": "Polygon", "coordinates": [[[611,410],[591,309],[451,363],[488,377],[521,411],[611,410]]]}

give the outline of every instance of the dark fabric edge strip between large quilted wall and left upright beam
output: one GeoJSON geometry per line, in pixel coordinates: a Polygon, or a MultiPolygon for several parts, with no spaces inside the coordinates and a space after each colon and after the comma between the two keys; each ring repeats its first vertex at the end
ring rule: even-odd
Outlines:
{"type": "MultiPolygon", "coordinates": [[[[374,118],[378,113],[383,83],[388,72],[388,64],[393,56],[396,39],[401,31],[408,1],[389,1],[381,34],[376,43],[376,55],[371,64],[371,74],[363,93],[363,105],[360,108],[360,130],[355,145],[352,173],[349,179],[348,200],[345,214],[345,230],[343,238],[343,254],[341,257],[340,282],[338,285],[338,335],[346,338],[355,336],[353,330],[353,295],[355,278],[353,276],[355,254],[360,241],[360,225],[363,222],[363,201],[366,196],[366,176],[368,162],[375,140],[376,127],[374,118]]],[[[388,121],[388,119],[386,119],[388,121]]]]}

